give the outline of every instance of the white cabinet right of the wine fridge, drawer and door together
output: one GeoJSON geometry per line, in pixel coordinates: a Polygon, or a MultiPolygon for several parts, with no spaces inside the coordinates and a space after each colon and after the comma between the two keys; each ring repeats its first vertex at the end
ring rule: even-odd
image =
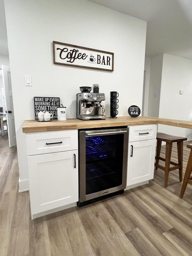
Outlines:
{"type": "Polygon", "coordinates": [[[129,127],[127,186],[153,179],[156,134],[157,125],[129,127]]]}

